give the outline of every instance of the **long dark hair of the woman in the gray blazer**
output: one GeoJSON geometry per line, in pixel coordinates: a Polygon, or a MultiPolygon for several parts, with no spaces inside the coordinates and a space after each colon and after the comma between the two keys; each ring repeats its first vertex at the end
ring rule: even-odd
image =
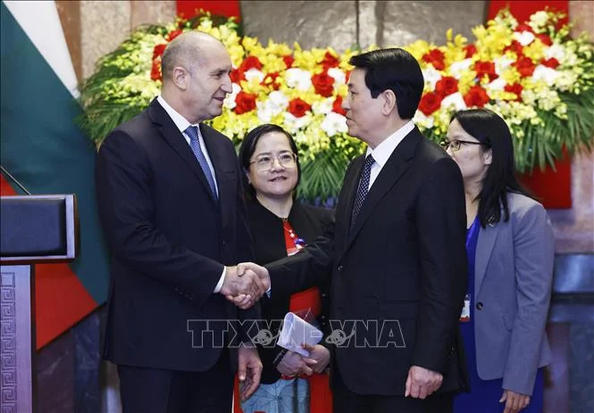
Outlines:
{"type": "Polygon", "coordinates": [[[450,123],[457,120],[460,126],[491,150],[491,164],[482,178],[479,200],[479,219],[484,228],[501,220],[509,219],[508,192],[531,196],[515,178],[514,143],[506,121],[489,109],[470,109],[456,112],[450,123]]]}

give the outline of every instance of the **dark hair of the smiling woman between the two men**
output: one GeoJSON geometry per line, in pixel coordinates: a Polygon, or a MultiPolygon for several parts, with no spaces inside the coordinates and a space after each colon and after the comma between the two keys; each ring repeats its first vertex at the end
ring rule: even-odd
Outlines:
{"type": "MultiPolygon", "coordinates": [[[[243,181],[243,189],[244,189],[244,196],[247,200],[254,201],[255,200],[255,189],[248,180],[247,180],[247,171],[250,167],[250,160],[252,159],[252,155],[255,152],[255,145],[258,145],[258,141],[260,138],[266,134],[271,132],[280,132],[284,136],[287,136],[289,140],[289,146],[291,147],[291,151],[298,155],[297,153],[297,144],[293,139],[293,136],[289,134],[285,129],[280,128],[279,125],[273,125],[272,123],[265,123],[264,125],[260,125],[257,128],[253,128],[249,132],[247,132],[246,137],[244,137],[241,146],[239,146],[239,162],[243,167],[243,174],[241,175],[241,180],[243,181]]],[[[297,186],[299,185],[299,181],[301,180],[301,165],[299,164],[299,157],[297,156],[297,186]]],[[[295,191],[293,191],[293,196],[295,196],[295,191]]]]}

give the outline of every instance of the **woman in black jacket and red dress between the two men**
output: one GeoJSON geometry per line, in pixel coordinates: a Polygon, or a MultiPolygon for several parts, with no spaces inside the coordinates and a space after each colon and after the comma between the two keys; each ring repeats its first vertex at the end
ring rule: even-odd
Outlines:
{"type": "MultiPolygon", "coordinates": [[[[246,172],[247,219],[257,264],[264,265],[297,253],[331,228],[330,211],[295,200],[301,168],[297,145],[283,128],[265,124],[251,130],[239,149],[239,161],[246,172]]],[[[274,320],[270,326],[272,335],[276,336],[280,320],[289,311],[309,312],[323,330],[327,324],[328,299],[329,285],[290,296],[275,294],[272,287],[270,297],[264,294],[260,304],[263,318],[274,320]]],[[[244,412],[332,411],[326,374],[330,352],[322,343],[308,349],[309,358],[277,345],[259,347],[264,364],[262,384],[242,403],[244,412]]]]}

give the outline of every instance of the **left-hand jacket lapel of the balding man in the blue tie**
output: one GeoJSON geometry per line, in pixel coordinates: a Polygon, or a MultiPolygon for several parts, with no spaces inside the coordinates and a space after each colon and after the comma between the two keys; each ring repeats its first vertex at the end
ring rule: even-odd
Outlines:
{"type": "Polygon", "coordinates": [[[157,102],[156,98],[153,99],[153,102],[151,102],[148,107],[148,116],[153,120],[165,141],[167,141],[167,143],[172,146],[173,150],[180,155],[180,158],[188,165],[188,168],[192,170],[194,175],[196,175],[197,179],[202,183],[202,186],[204,186],[205,191],[210,195],[213,202],[215,202],[213,192],[208,185],[205,173],[200,167],[196,156],[192,152],[192,149],[189,147],[184,136],[181,135],[180,130],[175,126],[175,123],[169,117],[167,112],[165,112],[163,106],[157,102]]]}

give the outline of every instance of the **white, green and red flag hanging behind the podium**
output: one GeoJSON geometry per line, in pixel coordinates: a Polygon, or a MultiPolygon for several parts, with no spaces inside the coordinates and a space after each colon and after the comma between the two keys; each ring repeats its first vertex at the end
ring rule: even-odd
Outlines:
{"type": "MultiPolygon", "coordinates": [[[[79,257],[35,266],[37,348],[105,302],[107,254],[100,233],[96,151],[73,120],[77,78],[53,1],[1,4],[2,166],[31,194],[76,194],[79,257]]],[[[2,195],[22,194],[7,177],[2,195]]]]}

